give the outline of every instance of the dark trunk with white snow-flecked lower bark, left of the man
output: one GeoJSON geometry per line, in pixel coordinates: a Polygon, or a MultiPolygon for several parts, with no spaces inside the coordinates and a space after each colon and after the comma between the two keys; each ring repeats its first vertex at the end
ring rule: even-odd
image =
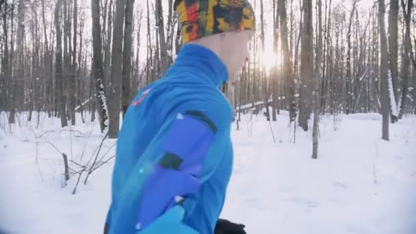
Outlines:
{"type": "MultiPolygon", "coordinates": [[[[101,45],[100,0],[91,0],[92,16],[92,75],[95,80],[101,132],[107,127],[108,107],[103,81],[103,54],[101,45]]],[[[95,108],[94,108],[95,112],[95,108]]],[[[93,113],[94,113],[93,112],[93,113]]]]}

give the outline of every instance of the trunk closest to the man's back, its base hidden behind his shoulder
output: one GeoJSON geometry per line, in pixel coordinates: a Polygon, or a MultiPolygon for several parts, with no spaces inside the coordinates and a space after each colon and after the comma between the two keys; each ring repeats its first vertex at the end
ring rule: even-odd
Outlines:
{"type": "Polygon", "coordinates": [[[130,103],[130,72],[131,72],[131,23],[133,21],[134,0],[126,1],[125,37],[122,53],[122,116],[127,112],[130,103]]]}

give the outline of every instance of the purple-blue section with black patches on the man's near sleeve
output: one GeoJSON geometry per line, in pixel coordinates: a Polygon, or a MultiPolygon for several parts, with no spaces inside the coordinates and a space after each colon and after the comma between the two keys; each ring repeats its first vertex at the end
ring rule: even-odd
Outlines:
{"type": "Polygon", "coordinates": [[[141,229],[146,229],[166,209],[181,202],[181,197],[198,192],[203,160],[217,132],[216,125],[201,112],[187,111],[177,115],[166,133],[163,156],[153,167],[143,188],[138,214],[141,229]]]}

